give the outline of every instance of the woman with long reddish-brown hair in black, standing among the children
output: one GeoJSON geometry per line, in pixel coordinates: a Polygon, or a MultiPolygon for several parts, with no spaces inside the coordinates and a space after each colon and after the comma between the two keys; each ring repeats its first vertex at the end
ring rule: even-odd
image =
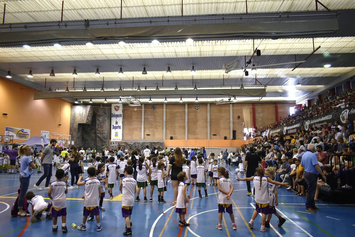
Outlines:
{"type": "Polygon", "coordinates": [[[168,177],[171,178],[171,183],[173,183],[174,187],[174,201],[171,202],[171,205],[176,204],[176,199],[178,198],[178,174],[182,172],[182,164],[184,164],[185,158],[182,157],[182,152],[180,147],[175,148],[174,155],[171,156],[169,161],[169,168],[168,168],[168,177]],[[170,175],[171,170],[171,175],[170,175]]]}

